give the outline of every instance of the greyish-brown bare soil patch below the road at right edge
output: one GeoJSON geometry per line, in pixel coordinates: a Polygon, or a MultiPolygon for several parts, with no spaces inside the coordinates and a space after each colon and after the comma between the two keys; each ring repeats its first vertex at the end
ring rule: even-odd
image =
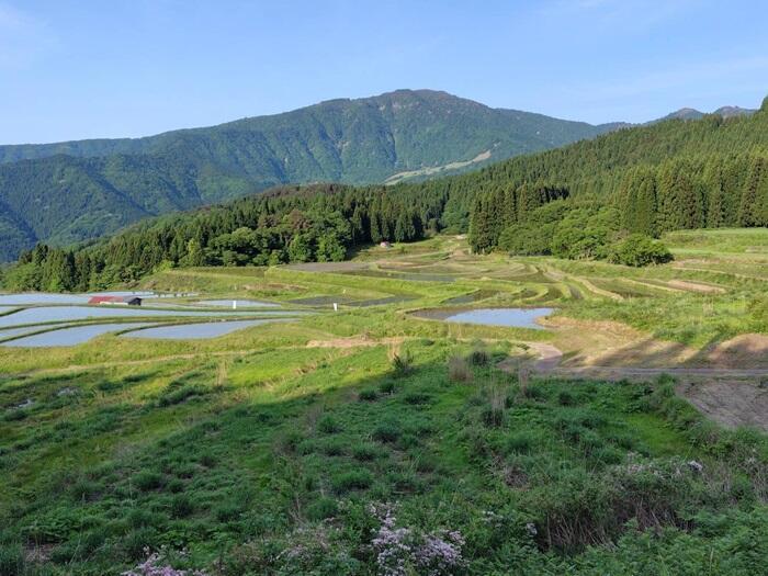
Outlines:
{"type": "Polygon", "coordinates": [[[747,382],[719,380],[679,384],[677,393],[723,426],[768,430],[768,389],[747,382]]]}

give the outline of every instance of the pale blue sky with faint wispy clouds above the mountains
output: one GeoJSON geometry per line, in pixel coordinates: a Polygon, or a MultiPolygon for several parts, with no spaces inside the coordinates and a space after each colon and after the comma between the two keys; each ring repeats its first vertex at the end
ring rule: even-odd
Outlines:
{"type": "Polygon", "coordinates": [[[0,0],[0,143],[431,88],[592,123],[768,94],[768,2],[0,0]]]}

